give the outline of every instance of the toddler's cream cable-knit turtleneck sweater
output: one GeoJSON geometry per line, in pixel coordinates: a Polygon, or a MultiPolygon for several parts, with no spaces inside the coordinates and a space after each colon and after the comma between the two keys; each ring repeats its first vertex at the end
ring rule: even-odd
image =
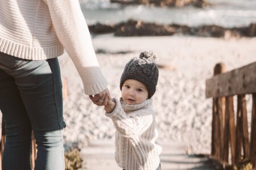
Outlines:
{"type": "Polygon", "coordinates": [[[158,138],[152,99],[141,104],[128,105],[115,99],[115,109],[105,113],[112,118],[115,128],[115,160],[126,170],[155,170],[158,168],[162,147],[158,138]]]}

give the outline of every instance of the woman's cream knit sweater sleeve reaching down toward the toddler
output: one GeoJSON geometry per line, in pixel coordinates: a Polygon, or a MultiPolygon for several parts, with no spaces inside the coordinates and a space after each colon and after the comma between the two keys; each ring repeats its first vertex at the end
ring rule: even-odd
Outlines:
{"type": "Polygon", "coordinates": [[[101,73],[88,25],[78,0],[43,0],[47,3],[56,35],[67,50],[84,84],[86,95],[103,91],[107,81],[101,73]]]}

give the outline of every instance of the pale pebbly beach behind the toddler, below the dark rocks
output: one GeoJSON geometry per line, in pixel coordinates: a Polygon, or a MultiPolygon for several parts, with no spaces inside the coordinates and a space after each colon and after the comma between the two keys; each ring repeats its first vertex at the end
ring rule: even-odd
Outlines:
{"type": "MultiPolygon", "coordinates": [[[[210,154],[212,99],[205,98],[205,80],[213,76],[214,65],[223,62],[230,71],[256,61],[256,38],[100,35],[92,37],[92,41],[110,94],[117,98],[121,96],[119,79],[129,59],[143,50],[158,54],[159,79],[152,99],[159,141],[185,143],[188,154],[210,154]]],[[[68,98],[64,100],[65,148],[83,148],[90,140],[113,140],[114,125],[105,116],[104,108],[84,95],[68,54],[64,53],[59,61],[62,76],[68,80],[68,98]]],[[[246,98],[250,120],[251,97],[246,98]]]]}

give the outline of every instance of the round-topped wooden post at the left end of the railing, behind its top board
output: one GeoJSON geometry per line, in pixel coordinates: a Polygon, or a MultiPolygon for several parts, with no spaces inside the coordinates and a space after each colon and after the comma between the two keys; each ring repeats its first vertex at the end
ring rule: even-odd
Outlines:
{"type": "MultiPolygon", "coordinates": [[[[226,72],[224,63],[218,63],[214,67],[214,75],[226,72]]],[[[225,99],[224,97],[213,97],[213,118],[212,118],[212,155],[222,158],[222,141],[224,141],[224,124],[225,124],[225,99]]],[[[222,160],[222,159],[221,159],[222,160]]]]}

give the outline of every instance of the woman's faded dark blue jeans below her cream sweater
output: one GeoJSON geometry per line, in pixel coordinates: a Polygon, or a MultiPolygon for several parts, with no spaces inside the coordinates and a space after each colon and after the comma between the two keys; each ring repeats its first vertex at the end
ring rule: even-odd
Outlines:
{"type": "Polygon", "coordinates": [[[64,169],[61,129],[63,101],[57,58],[31,61],[0,52],[0,110],[6,124],[2,169],[31,169],[31,131],[35,170],[64,169]]]}

